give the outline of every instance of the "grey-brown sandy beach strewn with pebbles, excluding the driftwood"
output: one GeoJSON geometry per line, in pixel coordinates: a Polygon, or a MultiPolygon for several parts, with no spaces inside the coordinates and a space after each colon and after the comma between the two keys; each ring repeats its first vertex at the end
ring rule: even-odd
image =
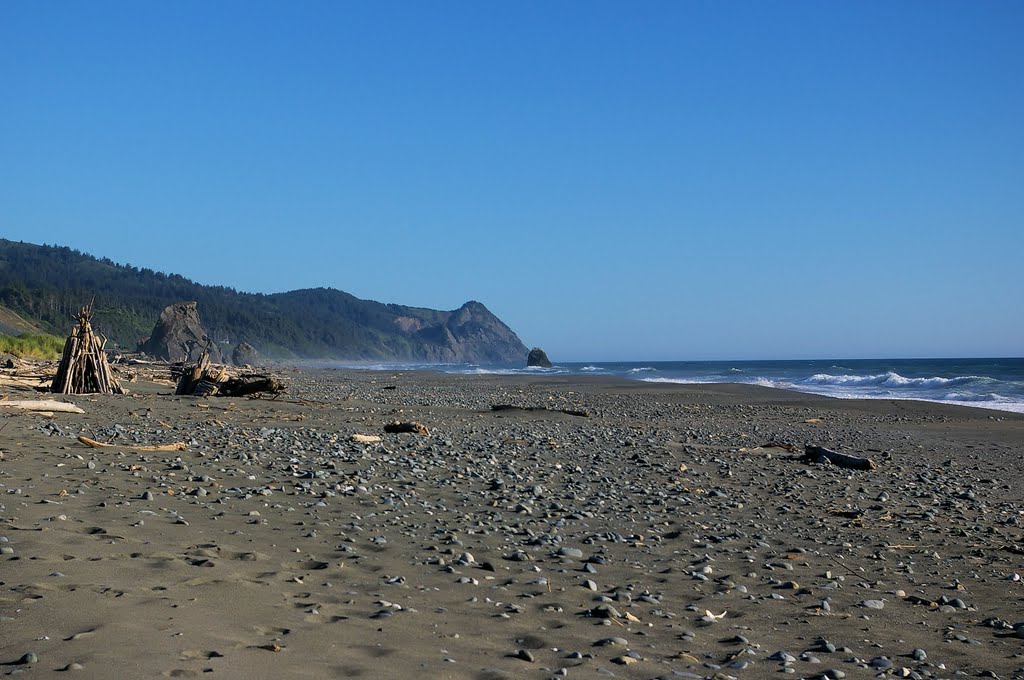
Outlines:
{"type": "Polygon", "coordinates": [[[0,410],[0,672],[1024,678],[1024,416],[282,375],[275,400],[138,382],[0,410]]]}

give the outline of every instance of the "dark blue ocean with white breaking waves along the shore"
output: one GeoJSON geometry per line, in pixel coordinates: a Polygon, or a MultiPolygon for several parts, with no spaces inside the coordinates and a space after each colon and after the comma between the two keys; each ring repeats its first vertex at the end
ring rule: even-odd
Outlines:
{"type": "Polygon", "coordinates": [[[599,375],[680,384],[745,383],[839,398],[919,399],[1024,413],[1024,358],[585,362],[551,369],[380,365],[460,374],[599,375]]]}

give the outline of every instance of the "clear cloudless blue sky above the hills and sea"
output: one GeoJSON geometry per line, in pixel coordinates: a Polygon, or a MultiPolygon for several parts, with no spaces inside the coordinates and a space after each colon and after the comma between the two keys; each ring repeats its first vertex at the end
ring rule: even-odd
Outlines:
{"type": "Polygon", "coordinates": [[[1024,4],[0,4],[0,236],[560,360],[1024,354],[1024,4]]]}

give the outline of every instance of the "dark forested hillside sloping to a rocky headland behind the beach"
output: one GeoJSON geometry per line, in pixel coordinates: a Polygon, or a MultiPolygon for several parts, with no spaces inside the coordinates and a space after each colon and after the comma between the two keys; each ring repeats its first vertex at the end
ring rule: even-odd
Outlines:
{"type": "Polygon", "coordinates": [[[195,300],[210,336],[278,357],[518,363],[526,348],[477,302],[439,311],[360,300],[333,289],[273,295],[203,286],[67,247],[0,240],[0,304],[56,335],[94,300],[109,347],[134,350],[168,304],[195,300]]]}

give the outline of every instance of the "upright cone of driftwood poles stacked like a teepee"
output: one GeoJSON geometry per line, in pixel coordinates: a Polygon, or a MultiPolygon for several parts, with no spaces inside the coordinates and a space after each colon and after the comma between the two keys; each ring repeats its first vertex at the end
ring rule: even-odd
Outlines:
{"type": "Polygon", "coordinates": [[[106,338],[92,331],[92,304],[78,313],[78,326],[65,343],[51,392],[60,394],[124,394],[106,363],[106,338]]]}

